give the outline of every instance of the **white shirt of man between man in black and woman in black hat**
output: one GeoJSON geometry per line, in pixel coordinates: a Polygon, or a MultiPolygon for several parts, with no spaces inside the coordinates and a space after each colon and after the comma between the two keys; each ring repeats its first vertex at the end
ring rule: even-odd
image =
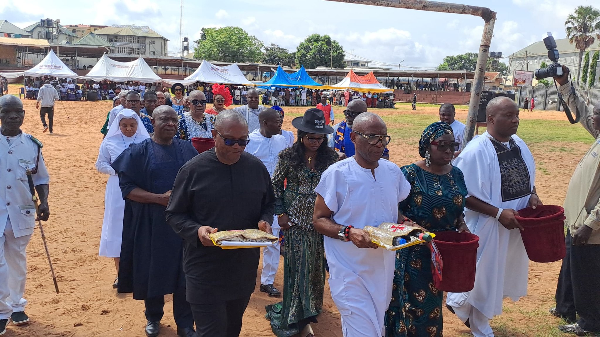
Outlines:
{"type": "Polygon", "coordinates": [[[280,134],[267,138],[260,134],[259,129],[248,134],[248,139],[250,139],[250,143],[248,143],[244,151],[259,158],[265,164],[266,170],[269,171],[272,177],[275,172],[275,166],[277,166],[277,162],[279,161],[279,152],[287,148],[287,140],[280,134]]]}

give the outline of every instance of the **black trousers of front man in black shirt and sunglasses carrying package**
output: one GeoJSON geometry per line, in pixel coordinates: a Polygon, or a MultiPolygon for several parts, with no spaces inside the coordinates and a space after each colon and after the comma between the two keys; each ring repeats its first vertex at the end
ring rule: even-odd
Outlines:
{"type": "Polygon", "coordinates": [[[197,337],[239,337],[250,295],[210,304],[191,303],[197,337]]]}

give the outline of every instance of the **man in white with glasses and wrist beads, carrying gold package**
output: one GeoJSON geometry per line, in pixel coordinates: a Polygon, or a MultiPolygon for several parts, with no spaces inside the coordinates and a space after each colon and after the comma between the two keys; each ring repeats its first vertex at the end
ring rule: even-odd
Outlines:
{"type": "Polygon", "coordinates": [[[400,168],[381,160],[386,135],[379,116],[365,112],[356,117],[350,134],[356,154],[325,170],[315,189],[313,222],[325,235],[329,288],[344,337],[385,335],[395,254],[377,248],[362,228],[398,222],[398,203],[410,191],[400,168]]]}

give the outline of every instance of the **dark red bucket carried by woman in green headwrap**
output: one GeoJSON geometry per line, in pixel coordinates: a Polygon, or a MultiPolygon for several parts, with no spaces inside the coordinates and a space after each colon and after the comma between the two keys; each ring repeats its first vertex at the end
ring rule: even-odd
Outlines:
{"type": "Polygon", "coordinates": [[[436,288],[450,293],[473,290],[479,236],[457,231],[437,231],[433,241],[443,261],[442,281],[434,279],[436,288]]]}

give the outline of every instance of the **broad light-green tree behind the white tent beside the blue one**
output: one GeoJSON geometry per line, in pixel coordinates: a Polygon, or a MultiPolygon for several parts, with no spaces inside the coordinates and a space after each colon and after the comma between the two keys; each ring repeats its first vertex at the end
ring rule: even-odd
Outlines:
{"type": "Polygon", "coordinates": [[[262,42],[239,27],[202,28],[194,58],[221,62],[260,62],[262,42]]]}

